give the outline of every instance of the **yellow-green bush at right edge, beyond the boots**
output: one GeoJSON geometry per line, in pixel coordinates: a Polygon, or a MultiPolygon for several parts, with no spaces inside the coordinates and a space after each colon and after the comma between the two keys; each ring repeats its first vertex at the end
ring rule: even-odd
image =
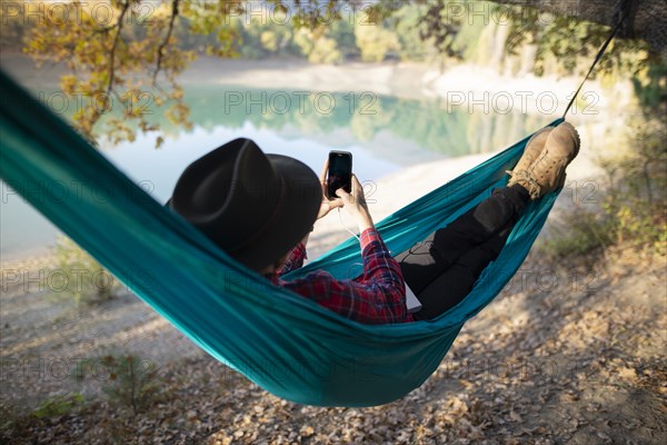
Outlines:
{"type": "Polygon", "coordinates": [[[560,259],[610,246],[667,255],[667,130],[651,120],[635,129],[633,150],[600,161],[609,180],[601,208],[568,214],[567,226],[539,244],[544,255],[560,259]]]}

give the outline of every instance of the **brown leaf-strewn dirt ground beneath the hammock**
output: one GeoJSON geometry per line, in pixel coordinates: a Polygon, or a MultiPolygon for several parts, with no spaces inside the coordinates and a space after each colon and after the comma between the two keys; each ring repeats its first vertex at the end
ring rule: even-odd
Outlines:
{"type": "MultiPolygon", "coordinates": [[[[0,437],[12,444],[667,443],[665,258],[618,249],[579,263],[540,264],[531,254],[420,388],[372,408],[281,400],[196,348],[127,291],[78,308],[48,290],[6,283],[0,437]],[[136,413],[102,390],[113,384],[103,372],[73,378],[82,359],[119,354],[155,370],[136,413]],[[73,393],[82,400],[43,414],[46,402],[73,393]]],[[[39,276],[50,264],[3,267],[39,276]]]]}

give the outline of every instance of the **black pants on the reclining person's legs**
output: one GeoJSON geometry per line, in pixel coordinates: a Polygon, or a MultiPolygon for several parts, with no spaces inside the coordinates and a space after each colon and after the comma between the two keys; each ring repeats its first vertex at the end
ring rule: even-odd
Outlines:
{"type": "Polygon", "coordinates": [[[415,318],[435,318],[470,293],[481,271],[500,254],[529,199],[519,185],[496,189],[447,227],[396,257],[406,284],[422,305],[415,318]]]}

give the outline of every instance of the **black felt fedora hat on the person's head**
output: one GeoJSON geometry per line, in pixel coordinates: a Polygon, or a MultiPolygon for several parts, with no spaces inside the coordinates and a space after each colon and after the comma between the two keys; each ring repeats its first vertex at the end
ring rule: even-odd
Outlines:
{"type": "Polygon", "coordinates": [[[239,138],[190,164],[167,205],[231,257],[261,270],[310,231],[321,199],[319,179],[303,162],[265,155],[239,138]]]}

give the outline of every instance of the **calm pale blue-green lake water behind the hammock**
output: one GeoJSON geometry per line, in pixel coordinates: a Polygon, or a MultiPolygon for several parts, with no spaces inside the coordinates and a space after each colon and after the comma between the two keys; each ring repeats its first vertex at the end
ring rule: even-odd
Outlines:
{"type": "MultiPolygon", "coordinates": [[[[56,88],[31,88],[68,119],[76,106],[56,88]]],[[[167,137],[156,149],[155,134],[102,152],[130,178],[166,201],[182,169],[192,160],[238,138],[253,139],[266,152],[298,158],[319,174],[331,149],[351,151],[354,170],[365,181],[411,165],[470,154],[492,152],[554,120],[552,116],[467,113],[437,99],[374,95],[271,91],[225,85],[186,85],[191,129],[153,112],[167,137]],[[319,95],[319,96],[318,96],[319,95]]],[[[103,127],[103,123],[102,123],[103,127]]],[[[1,187],[0,254],[3,260],[43,253],[59,231],[7,185],[1,187]]]]}

